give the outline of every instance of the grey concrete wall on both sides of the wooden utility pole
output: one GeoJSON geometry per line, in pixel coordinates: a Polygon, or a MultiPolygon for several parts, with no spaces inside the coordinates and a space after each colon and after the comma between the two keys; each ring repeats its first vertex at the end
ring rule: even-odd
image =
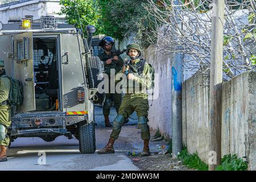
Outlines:
{"type": "MultiPolygon", "coordinates": [[[[209,89],[200,86],[203,76],[183,82],[183,142],[208,163],[209,89]]],[[[246,157],[256,169],[256,72],[245,72],[223,84],[222,156],[246,157]]]]}

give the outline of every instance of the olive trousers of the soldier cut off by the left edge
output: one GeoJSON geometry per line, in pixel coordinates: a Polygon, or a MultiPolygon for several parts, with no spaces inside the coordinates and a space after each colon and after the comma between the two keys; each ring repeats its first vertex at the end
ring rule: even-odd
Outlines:
{"type": "MultiPolygon", "coordinates": [[[[0,106],[0,123],[6,127],[6,134],[7,134],[7,127],[11,125],[9,105],[0,106]]],[[[2,141],[0,141],[0,146],[9,146],[9,143],[10,143],[10,138],[6,137],[2,141]]]]}

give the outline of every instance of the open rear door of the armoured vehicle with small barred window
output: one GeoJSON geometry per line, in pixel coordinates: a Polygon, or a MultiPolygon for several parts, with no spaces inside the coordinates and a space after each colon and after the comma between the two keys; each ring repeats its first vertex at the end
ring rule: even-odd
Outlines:
{"type": "Polygon", "coordinates": [[[18,111],[22,113],[35,110],[32,32],[11,35],[11,44],[13,49],[11,75],[23,85],[23,104],[18,107],[18,111]]]}

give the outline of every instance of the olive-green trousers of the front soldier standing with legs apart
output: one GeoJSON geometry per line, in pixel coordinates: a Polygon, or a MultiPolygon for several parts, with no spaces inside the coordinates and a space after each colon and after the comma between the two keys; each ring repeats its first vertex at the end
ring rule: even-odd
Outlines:
{"type": "MultiPolygon", "coordinates": [[[[125,96],[123,96],[121,106],[119,107],[118,114],[123,115],[124,118],[128,118],[131,114],[133,114],[134,111],[136,111],[138,117],[146,117],[147,119],[148,109],[149,109],[149,106],[148,106],[147,94],[144,94],[144,93],[125,94],[125,96]]],[[[114,119],[114,122],[116,122],[115,119],[114,119]]],[[[115,123],[113,123],[113,125],[115,126],[115,123]]],[[[118,125],[117,129],[113,129],[112,133],[110,134],[110,137],[117,139],[121,132],[122,125],[123,123],[118,125]]],[[[147,127],[146,131],[141,132],[141,138],[143,140],[150,139],[150,129],[148,125],[146,127],[147,127]]]]}

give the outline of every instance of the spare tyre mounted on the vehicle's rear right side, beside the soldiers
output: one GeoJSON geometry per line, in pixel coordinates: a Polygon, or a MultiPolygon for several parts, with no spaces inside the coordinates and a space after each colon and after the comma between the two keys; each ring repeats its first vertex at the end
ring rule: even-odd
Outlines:
{"type": "MultiPolygon", "coordinates": [[[[98,56],[92,56],[92,58],[89,57],[89,60],[86,61],[86,72],[88,75],[88,84],[89,88],[97,88],[98,84],[102,80],[97,80],[98,75],[100,75],[103,72],[103,64],[102,61],[98,56]]],[[[93,100],[93,104],[102,104],[104,101],[104,94],[96,93],[96,99],[93,100]]]]}

